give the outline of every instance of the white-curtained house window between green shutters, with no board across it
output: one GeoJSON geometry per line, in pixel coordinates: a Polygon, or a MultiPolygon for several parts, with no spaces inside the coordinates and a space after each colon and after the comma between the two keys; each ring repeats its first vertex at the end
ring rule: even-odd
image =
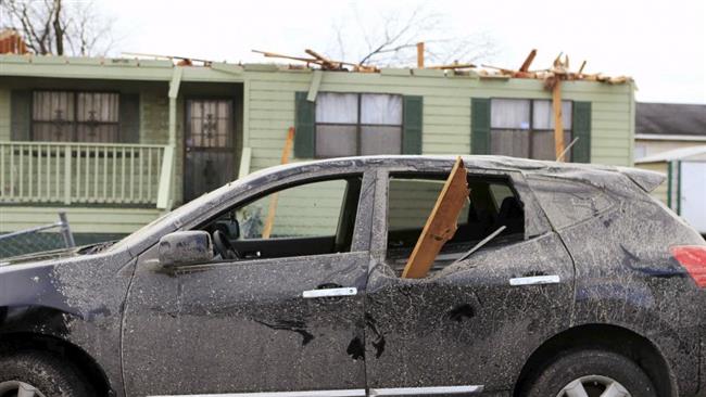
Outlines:
{"type": "Polygon", "coordinates": [[[402,95],[319,93],[316,157],[402,153],[402,95]]]}

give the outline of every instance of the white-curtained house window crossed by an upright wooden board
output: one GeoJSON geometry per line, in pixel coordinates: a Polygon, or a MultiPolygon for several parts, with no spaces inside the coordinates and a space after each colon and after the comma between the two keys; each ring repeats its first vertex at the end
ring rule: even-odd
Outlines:
{"type": "MultiPolygon", "coordinates": [[[[572,139],[571,107],[571,101],[562,101],[565,146],[572,139]]],[[[491,154],[556,159],[552,101],[492,99],[490,127],[491,154]]],[[[571,161],[571,151],[564,159],[571,161]]]]}

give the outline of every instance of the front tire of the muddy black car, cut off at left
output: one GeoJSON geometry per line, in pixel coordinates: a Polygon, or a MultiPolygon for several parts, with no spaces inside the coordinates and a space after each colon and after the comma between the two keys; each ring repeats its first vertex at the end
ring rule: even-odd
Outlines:
{"type": "Polygon", "coordinates": [[[74,366],[40,351],[13,353],[0,357],[0,396],[13,396],[16,393],[13,389],[20,387],[34,388],[35,396],[38,397],[92,395],[74,366]]]}

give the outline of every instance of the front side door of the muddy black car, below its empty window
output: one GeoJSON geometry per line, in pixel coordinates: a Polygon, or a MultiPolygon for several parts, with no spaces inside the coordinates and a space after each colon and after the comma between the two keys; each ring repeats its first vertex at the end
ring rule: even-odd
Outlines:
{"type": "Polygon", "coordinates": [[[124,326],[129,396],[365,395],[363,303],[373,179],[360,174],[300,182],[282,182],[287,189],[262,195],[268,204],[242,233],[263,235],[274,195],[278,215],[266,244],[259,246],[257,239],[245,244],[252,249],[248,257],[172,270],[155,264],[153,253],[140,258],[124,326]],[[345,193],[324,187],[337,181],[348,184],[345,193]],[[350,189],[351,183],[358,185],[350,189]],[[303,196],[288,195],[302,187],[312,189],[304,189],[303,196]],[[337,203],[351,202],[345,194],[357,197],[352,220],[339,216],[345,212],[337,203]],[[318,236],[331,227],[336,235],[318,236]],[[352,231],[348,243],[339,235],[343,227],[352,231]],[[298,249],[297,239],[300,245],[332,245],[298,249]]]}

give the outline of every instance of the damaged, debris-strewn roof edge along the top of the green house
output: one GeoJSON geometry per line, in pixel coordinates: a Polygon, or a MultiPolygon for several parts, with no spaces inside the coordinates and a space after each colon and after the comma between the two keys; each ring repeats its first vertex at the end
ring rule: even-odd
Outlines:
{"type": "MultiPolygon", "coordinates": [[[[232,81],[241,80],[248,72],[304,72],[314,71],[331,72],[312,64],[285,64],[285,63],[227,63],[203,60],[162,57],[88,57],[64,55],[37,55],[37,54],[0,54],[0,76],[28,76],[28,77],[67,77],[67,78],[109,78],[109,79],[137,79],[137,80],[169,80],[173,71],[184,71],[184,80],[190,81],[232,81]],[[194,64],[192,61],[199,62],[194,64]],[[27,67],[33,66],[33,67],[27,67]]],[[[336,69],[335,73],[365,73],[393,76],[424,76],[424,77],[467,77],[472,79],[508,80],[508,79],[537,79],[549,81],[554,79],[601,82],[607,85],[631,84],[628,76],[607,76],[601,73],[587,74],[583,65],[578,72],[571,72],[566,63],[555,62],[555,65],[539,71],[515,71],[483,65],[446,65],[430,67],[367,67],[336,69]],[[468,66],[468,67],[466,67],[468,66]],[[459,67],[459,68],[457,68],[459,67]]]]}

